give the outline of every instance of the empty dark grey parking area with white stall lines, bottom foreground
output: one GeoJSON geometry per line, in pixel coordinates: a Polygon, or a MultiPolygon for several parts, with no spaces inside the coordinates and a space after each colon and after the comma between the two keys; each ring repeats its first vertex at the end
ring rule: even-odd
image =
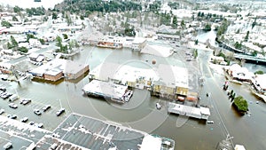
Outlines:
{"type": "Polygon", "coordinates": [[[36,144],[36,149],[48,149],[54,144],[59,149],[139,149],[144,134],[113,122],[70,114],[51,136],[43,137],[36,144]]]}

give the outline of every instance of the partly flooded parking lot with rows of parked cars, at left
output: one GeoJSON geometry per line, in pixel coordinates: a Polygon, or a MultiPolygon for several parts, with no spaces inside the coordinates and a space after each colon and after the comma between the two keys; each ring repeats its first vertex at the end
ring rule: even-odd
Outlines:
{"type": "MultiPolygon", "coordinates": [[[[14,101],[10,101],[9,98],[2,99],[0,98],[0,109],[4,109],[4,113],[1,115],[8,116],[8,115],[17,115],[16,120],[20,121],[22,118],[27,117],[28,120],[25,123],[35,122],[35,124],[43,123],[43,128],[46,130],[54,130],[58,125],[59,122],[62,122],[66,116],[70,113],[69,108],[66,106],[66,112],[57,116],[56,113],[62,106],[62,100],[64,99],[56,99],[49,94],[45,94],[42,91],[35,91],[35,89],[27,89],[27,84],[31,83],[23,83],[23,85],[15,83],[15,82],[8,82],[8,81],[1,81],[1,87],[5,87],[6,91],[11,94],[18,95],[19,99],[15,99],[14,101]],[[45,96],[43,96],[45,94],[45,96]],[[39,96],[38,96],[39,95],[39,96]],[[30,99],[30,102],[27,104],[20,104],[22,99],[30,99]],[[13,105],[17,106],[17,108],[10,106],[13,105]],[[51,105],[47,111],[43,111],[43,107],[51,105]],[[38,109],[40,114],[35,114],[34,110],[38,109]]],[[[0,91],[4,92],[4,91],[0,91]]]]}

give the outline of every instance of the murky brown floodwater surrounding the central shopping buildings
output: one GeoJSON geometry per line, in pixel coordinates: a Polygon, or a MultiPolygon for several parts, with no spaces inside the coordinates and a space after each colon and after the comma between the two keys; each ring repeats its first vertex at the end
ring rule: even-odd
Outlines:
{"type": "MultiPolygon", "coordinates": [[[[158,134],[163,137],[173,138],[176,141],[176,149],[215,149],[219,141],[230,133],[235,144],[242,144],[246,149],[266,149],[263,135],[266,131],[263,124],[266,122],[265,104],[252,95],[246,85],[230,84],[230,89],[242,95],[249,102],[250,115],[239,116],[231,107],[226,92],[222,90],[223,75],[216,74],[207,67],[207,56],[211,51],[200,51],[200,62],[205,77],[205,85],[201,88],[200,104],[210,107],[210,120],[215,123],[205,122],[167,113],[167,101],[150,96],[149,91],[135,90],[129,103],[120,105],[110,103],[106,99],[90,98],[83,94],[82,87],[89,82],[88,75],[76,81],[60,81],[54,83],[27,82],[10,83],[10,89],[15,90],[21,97],[31,97],[52,101],[53,107],[66,107],[68,113],[89,115],[101,120],[118,122],[125,126],[148,133],[158,134]],[[211,92],[211,97],[205,96],[211,92]],[[60,99],[60,100],[56,100],[60,99]],[[160,102],[162,108],[155,108],[156,102],[160,102]]],[[[175,54],[174,54],[175,55],[175,54]]],[[[139,54],[129,49],[110,50],[97,47],[84,46],[80,54],[72,59],[87,63],[90,69],[97,67],[102,62],[115,62],[128,64],[134,67],[158,67],[163,64],[177,64],[183,66],[180,60],[160,58],[148,54],[139,54]],[[156,64],[152,64],[152,60],[156,64]]],[[[103,70],[105,71],[105,70],[103,70]]],[[[56,127],[60,120],[46,118],[47,122],[56,127]]],[[[45,125],[45,123],[44,123],[45,125]]]]}

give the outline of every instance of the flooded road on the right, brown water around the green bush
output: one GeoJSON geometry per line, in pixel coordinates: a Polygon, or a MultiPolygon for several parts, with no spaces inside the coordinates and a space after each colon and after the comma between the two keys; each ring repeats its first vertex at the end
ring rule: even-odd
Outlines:
{"type": "MultiPolygon", "coordinates": [[[[224,75],[217,75],[209,68],[207,60],[211,51],[203,51],[200,55],[200,67],[205,78],[205,85],[201,88],[200,97],[203,98],[200,104],[210,106],[211,116],[209,120],[215,122],[222,130],[224,139],[230,134],[234,144],[246,146],[246,149],[265,149],[265,130],[262,127],[265,119],[265,104],[255,105],[256,99],[250,93],[247,85],[230,83],[229,91],[234,90],[238,95],[249,101],[249,113],[240,116],[231,107],[231,100],[228,99],[227,92],[223,91],[224,75]],[[206,93],[211,93],[209,98],[206,93]],[[262,123],[262,124],[261,124],[262,123]]],[[[221,139],[222,140],[222,139],[221,139]]]]}

